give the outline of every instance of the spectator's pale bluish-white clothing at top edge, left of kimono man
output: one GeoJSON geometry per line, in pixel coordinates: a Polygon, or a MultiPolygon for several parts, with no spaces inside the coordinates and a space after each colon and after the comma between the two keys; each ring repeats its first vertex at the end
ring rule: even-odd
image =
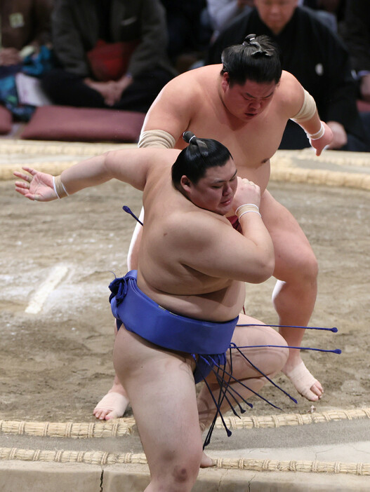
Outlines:
{"type": "Polygon", "coordinates": [[[213,39],[223,31],[234,18],[248,13],[253,8],[253,0],[207,0],[209,20],[213,28],[213,39]]]}

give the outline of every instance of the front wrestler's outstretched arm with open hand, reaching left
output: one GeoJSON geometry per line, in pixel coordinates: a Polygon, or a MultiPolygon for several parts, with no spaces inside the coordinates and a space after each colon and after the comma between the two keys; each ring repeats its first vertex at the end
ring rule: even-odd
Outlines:
{"type": "Polygon", "coordinates": [[[157,163],[166,163],[167,160],[169,163],[174,162],[177,154],[178,151],[164,151],[163,149],[110,151],[100,156],[82,160],[64,170],[58,177],[62,183],[59,186],[58,181],[53,180],[52,175],[33,168],[23,167],[22,169],[29,172],[31,176],[22,172],[14,172],[16,177],[22,179],[21,182],[15,182],[15,191],[29,198],[29,200],[44,202],[58,198],[58,189],[60,191],[59,196],[72,195],[81,189],[97,186],[113,178],[143,191],[150,168],[157,163]]]}

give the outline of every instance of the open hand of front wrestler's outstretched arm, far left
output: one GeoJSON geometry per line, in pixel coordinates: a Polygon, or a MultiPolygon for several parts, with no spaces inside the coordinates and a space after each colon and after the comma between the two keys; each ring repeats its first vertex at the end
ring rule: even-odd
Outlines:
{"type": "Polygon", "coordinates": [[[22,170],[29,172],[29,174],[13,172],[13,175],[22,179],[22,181],[15,182],[15,191],[29,200],[38,202],[50,202],[58,198],[54,191],[53,176],[26,166],[22,167],[22,170]]]}

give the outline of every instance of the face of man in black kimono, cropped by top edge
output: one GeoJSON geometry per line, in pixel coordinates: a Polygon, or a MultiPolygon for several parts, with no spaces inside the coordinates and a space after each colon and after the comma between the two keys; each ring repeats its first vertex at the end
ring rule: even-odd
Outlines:
{"type": "Polygon", "coordinates": [[[260,20],[274,34],[279,34],[291,20],[296,6],[298,6],[298,0],[254,0],[254,5],[260,20]]]}

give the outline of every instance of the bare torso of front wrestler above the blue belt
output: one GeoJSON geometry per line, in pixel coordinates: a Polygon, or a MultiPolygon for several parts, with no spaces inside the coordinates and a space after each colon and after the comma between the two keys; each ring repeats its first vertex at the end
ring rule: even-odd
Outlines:
{"type": "MultiPolygon", "coordinates": [[[[145,227],[140,243],[138,287],[174,313],[203,320],[230,320],[242,309],[244,282],[206,275],[197,271],[196,265],[192,268],[189,264],[194,258],[192,231],[202,234],[204,228],[199,228],[202,221],[215,234],[235,231],[225,217],[193,205],[173,187],[170,164],[158,163],[145,184],[145,227]],[[185,224],[190,230],[188,239],[185,224]]],[[[200,254],[198,251],[197,256],[200,254]]]]}

